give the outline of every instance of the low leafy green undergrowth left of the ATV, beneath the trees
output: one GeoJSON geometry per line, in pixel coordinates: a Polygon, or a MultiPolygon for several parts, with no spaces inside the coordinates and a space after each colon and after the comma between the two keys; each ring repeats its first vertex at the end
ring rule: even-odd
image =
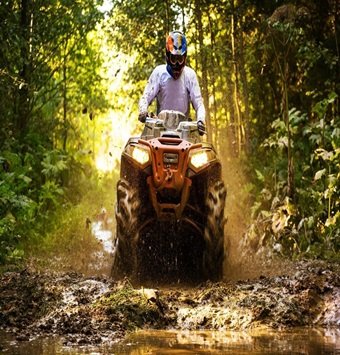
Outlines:
{"type": "Polygon", "coordinates": [[[28,250],[78,243],[74,236],[81,235],[86,218],[113,203],[115,181],[100,178],[81,155],[40,149],[25,158],[9,151],[0,155],[0,264],[28,250]]]}

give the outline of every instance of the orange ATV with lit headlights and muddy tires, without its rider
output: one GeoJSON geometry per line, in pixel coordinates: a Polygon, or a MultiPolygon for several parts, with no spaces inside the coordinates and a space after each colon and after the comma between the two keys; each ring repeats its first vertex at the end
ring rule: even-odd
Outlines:
{"type": "Polygon", "coordinates": [[[196,122],[169,110],[148,117],[121,156],[113,276],[221,279],[225,199],[221,163],[196,122]]]}

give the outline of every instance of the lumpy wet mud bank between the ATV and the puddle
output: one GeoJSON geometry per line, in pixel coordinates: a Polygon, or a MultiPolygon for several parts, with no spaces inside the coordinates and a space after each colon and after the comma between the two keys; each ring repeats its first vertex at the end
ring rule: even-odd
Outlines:
{"type": "Polygon", "coordinates": [[[0,329],[16,340],[105,344],[137,329],[340,328],[340,266],[295,263],[280,275],[144,288],[129,280],[33,268],[0,276],[0,329]]]}

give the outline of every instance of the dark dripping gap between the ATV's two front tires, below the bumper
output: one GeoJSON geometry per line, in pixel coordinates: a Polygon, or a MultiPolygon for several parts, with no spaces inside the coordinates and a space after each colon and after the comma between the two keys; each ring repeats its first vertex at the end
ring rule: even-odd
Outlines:
{"type": "Polygon", "coordinates": [[[155,221],[139,235],[138,280],[158,284],[203,281],[202,239],[190,225],[155,221]]]}

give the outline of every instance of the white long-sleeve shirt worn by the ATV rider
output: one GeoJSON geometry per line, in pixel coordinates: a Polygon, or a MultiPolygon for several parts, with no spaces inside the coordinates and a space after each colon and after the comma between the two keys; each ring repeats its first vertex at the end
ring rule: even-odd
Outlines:
{"type": "Polygon", "coordinates": [[[187,66],[175,80],[166,65],[157,66],[150,75],[139,101],[139,112],[147,112],[151,102],[157,98],[157,113],[174,110],[189,115],[190,102],[196,111],[197,121],[205,121],[205,108],[195,71],[187,66]]]}

